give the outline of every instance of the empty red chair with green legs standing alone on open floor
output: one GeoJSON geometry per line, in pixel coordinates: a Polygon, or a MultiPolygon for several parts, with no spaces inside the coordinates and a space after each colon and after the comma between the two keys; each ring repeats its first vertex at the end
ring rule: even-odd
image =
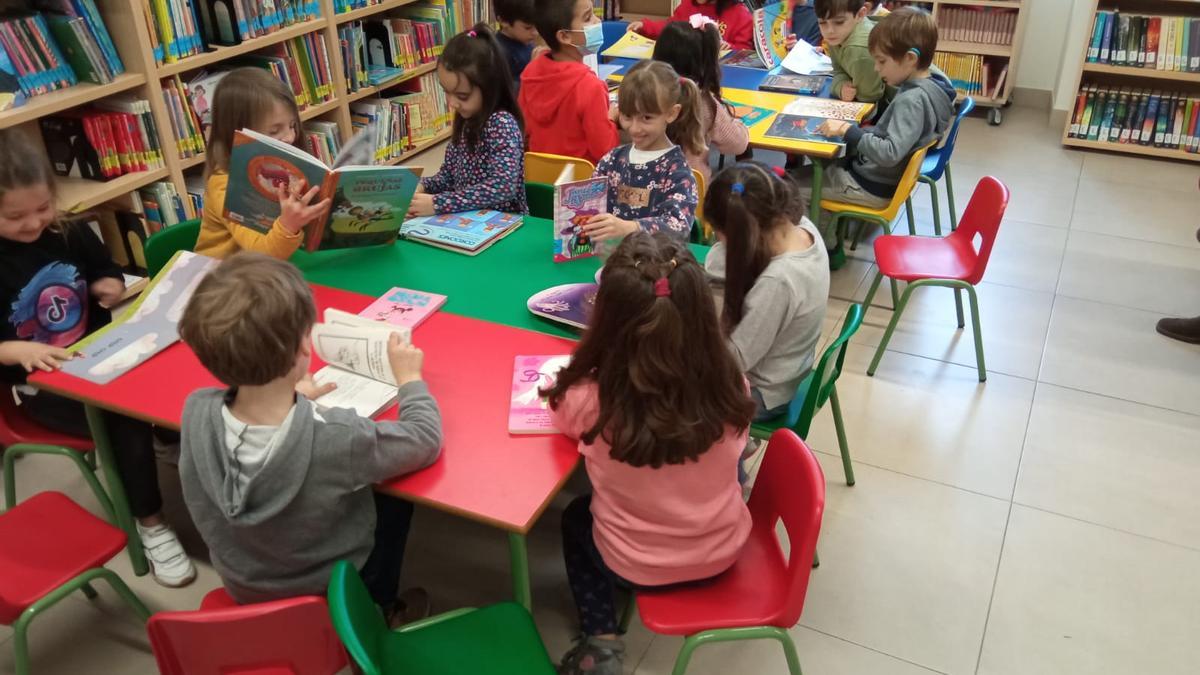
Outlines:
{"type": "Polygon", "coordinates": [[[908,304],[908,295],[920,286],[943,286],[954,288],[954,309],[958,311],[959,328],[962,321],[962,295],[967,292],[971,300],[971,325],[974,329],[976,366],[979,370],[979,382],[988,380],[988,369],[983,360],[983,335],[979,330],[979,300],[974,286],[983,279],[988,269],[991,247],[996,244],[1000,221],[1008,208],[1008,187],[998,179],[984,177],[976,185],[971,202],[962,214],[959,228],[944,238],[940,237],[895,237],[883,235],[875,240],[875,263],[880,267],[871,289],[863,301],[863,313],[871,307],[871,298],[884,276],[895,281],[907,281],[904,294],[896,301],[892,312],[892,322],[883,333],[883,340],[875,350],[875,358],[866,375],[875,375],[875,369],[883,358],[883,351],[892,339],[892,333],[900,322],[900,315],[908,304]],[[976,243],[978,239],[978,244],[976,243]]]}

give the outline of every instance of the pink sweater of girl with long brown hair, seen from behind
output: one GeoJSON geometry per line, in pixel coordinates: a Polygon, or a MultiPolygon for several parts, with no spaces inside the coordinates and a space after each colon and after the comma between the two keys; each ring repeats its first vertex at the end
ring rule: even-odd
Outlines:
{"type": "MultiPolygon", "coordinates": [[[[551,417],[559,431],[578,438],[595,424],[599,405],[596,384],[578,384],[551,417]]],[[[737,468],[745,444],[745,432],[730,430],[700,461],[650,468],[613,460],[600,436],[590,446],[580,441],[594,490],[592,536],[605,563],[644,586],[728,569],[750,536],[737,468]]]]}

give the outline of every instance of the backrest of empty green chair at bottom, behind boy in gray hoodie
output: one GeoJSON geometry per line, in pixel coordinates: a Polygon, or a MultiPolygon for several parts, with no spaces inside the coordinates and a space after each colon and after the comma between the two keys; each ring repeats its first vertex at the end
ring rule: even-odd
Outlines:
{"type": "Polygon", "coordinates": [[[329,578],[329,616],[342,645],[364,675],[382,675],[388,622],[371,599],[359,571],[341,560],[329,578]]]}

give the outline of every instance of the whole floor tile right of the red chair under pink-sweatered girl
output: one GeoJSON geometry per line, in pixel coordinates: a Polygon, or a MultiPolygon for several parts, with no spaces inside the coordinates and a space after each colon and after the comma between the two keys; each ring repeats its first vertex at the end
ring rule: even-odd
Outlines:
{"type": "Polygon", "coordinates": [[[971,673],[1008,503],[820,454],[821,567],[800,623],[942,673],[971,673]]]}

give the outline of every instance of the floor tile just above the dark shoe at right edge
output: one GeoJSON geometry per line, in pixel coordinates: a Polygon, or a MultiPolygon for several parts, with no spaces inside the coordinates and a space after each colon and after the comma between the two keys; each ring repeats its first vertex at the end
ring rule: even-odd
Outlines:
{"type": "Polygon", "coordinates": [[[1200,251],[1073,231],[1058,293],[1174,316],[1200,313],[1200,251]]]}

